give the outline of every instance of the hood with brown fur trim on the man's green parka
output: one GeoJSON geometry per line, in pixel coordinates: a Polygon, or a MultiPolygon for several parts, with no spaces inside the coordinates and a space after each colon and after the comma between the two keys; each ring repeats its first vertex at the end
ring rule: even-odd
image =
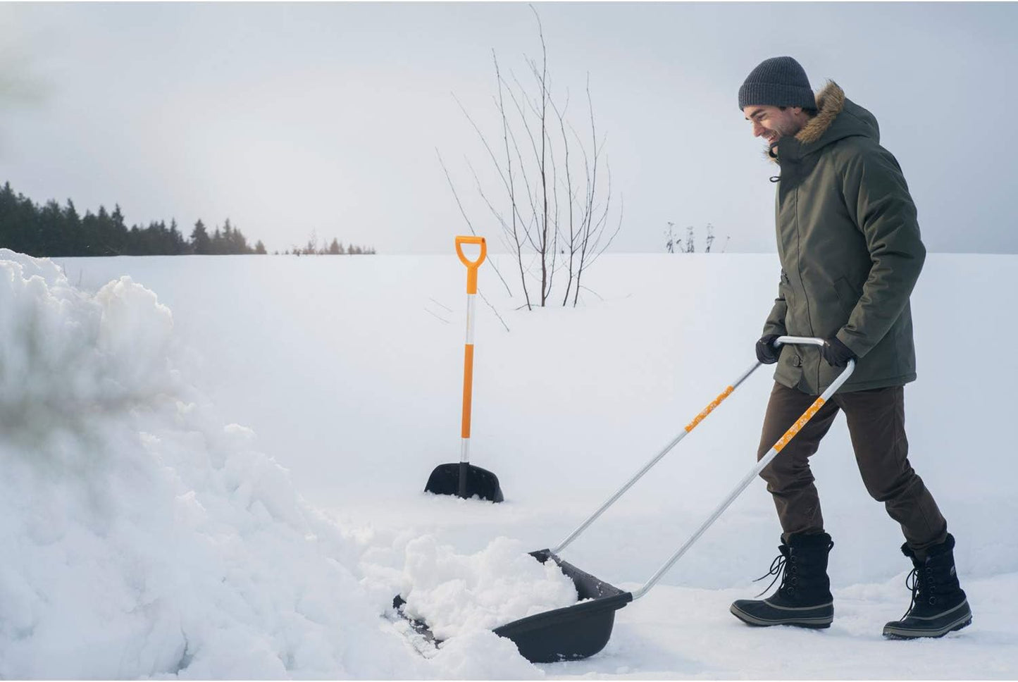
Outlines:
{"type": "MultiPolygon", "coordinates": [[[[809,119],[795,137],[778,140],[778,157],[805,156],[844,137],[861,135],[880,144],[881,129],[876,117],[845,97],[845,91],[834,80],[816,93],[817,113],[809,119]]],[[[777,160],[768,150],[768,156],[777,160]]]]}

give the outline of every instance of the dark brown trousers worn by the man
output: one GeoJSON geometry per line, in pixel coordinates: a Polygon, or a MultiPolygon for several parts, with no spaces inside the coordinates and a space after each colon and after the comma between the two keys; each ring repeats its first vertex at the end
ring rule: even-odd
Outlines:
{"type": "MultiPolygon", "coordinates": [[[[774,385],[756,459],[774,447],[815,399],[781,384],[774,385]]],[[[774,496],[784,539],[787,542],[792,533],[824,530],[809,457],[816,452],[839,409],[845,410],[855,461],[866,490],[901,524],[909,547],[923,554],[926,548],[943,543],[947,538],[947,521],[922,478],[908,463],[905,391],[901,386],[835,394],[764,468],[760,477],[774,496]]]]}

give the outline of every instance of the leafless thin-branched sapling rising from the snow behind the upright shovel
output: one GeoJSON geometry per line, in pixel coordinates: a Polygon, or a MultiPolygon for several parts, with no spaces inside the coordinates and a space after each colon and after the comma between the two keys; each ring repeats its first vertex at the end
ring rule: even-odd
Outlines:
{"type": "MultiPolygon", "coordinates": [[[[457,100],[495,169],[499,186],[492,192],[467,162],[477,193],[501,229],[501,242],[514,255],[528,309],[548,304],[560,271],[565,275],[562,304],[568,305],[571,298],[576,305],[583,273],[622,227],[621,203],[617,224],[612,215],[606,138],[596,125],[589,76],[584,125],[588,129],[581,135],[569,120],[568,92],[562,100],[553,96],[544,29],[532,5],[530,9],[538,21],[541,57],[524,56],[528,86],[512,73],[507,77],[492,52],[501,136],[498,145],[490,143],[489,135],[457,100]]],[[[460,213],[470,232],[476,234],[441,155],[439,159],[460,213]]],[[[511,293],[501,273],[499,277],[511,293]]]]}

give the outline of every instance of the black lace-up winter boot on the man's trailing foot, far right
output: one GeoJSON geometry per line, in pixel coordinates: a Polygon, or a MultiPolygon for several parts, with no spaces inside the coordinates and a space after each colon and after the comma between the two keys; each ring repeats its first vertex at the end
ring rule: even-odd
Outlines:
{"type": "Polygon", "coordinates": [[[901,546],[902,553],[912,560],[912,572],[905,584],[912,590],[912,603],[900,621],[884,626],[884,636],[892,639],[914,637],[943,637],[952,630],[960,630],[972,622],[965,590],[958,583],[954,565],[954,535],[926,552],[920,561],[908,545],[901,546]]]}

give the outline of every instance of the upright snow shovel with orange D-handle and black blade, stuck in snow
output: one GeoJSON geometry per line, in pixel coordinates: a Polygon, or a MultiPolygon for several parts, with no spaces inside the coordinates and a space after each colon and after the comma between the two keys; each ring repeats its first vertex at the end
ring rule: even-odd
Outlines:
{"type": "Polygon", "coordinates": [[[477,269],[485,262],[488,245],[484,237],[456,237],[456,253],[466,266],[466,344],[463,349],[463,416],[460,425],[462,445],[459,463],[439,464],[432,471],[425,486],[425,492],[436,495],[456,495],[482,500],[502,502],[502,488],[499,477],[488,469],[470,464],[470,403],[473,395],[473,309],[477,293],[477,269]],[[463,253],[463,244],[477,244],[480,255],[471,261],[463,253]]]}

